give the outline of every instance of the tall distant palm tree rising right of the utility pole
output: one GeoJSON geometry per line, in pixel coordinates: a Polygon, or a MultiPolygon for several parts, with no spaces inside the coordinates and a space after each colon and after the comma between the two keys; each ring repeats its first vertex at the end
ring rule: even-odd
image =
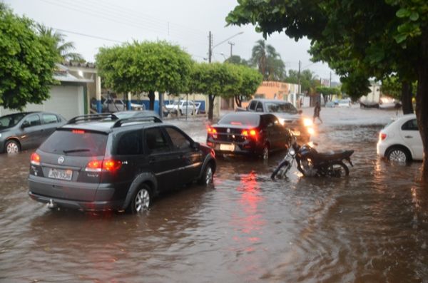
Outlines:
{"type": "Polygon", "coordinates": [[[253,66],[257,66],[264,80],[282,81],[285,77],[285,64],[275,48],[263,39],[256,42],[251,56],[253,66]]]}

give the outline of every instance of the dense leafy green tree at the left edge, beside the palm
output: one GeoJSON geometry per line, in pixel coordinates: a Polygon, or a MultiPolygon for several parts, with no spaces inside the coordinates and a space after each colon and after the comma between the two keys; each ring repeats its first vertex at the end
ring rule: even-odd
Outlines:
{"type": "Polygon", "coordinates": [[[34,22],[0,3],[0,105],[22,110],[42,103],[54,85],[55,42],[34,32],[34,22]]]}

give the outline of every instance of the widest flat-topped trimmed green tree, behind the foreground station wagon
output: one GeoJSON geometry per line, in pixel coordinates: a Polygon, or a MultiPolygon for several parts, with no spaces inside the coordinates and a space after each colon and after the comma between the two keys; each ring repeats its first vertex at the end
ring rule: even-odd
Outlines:
{"type": "Polygon", "coordinates": [[[165,41],[133,41],[100,48],[96,64],[106,86],[113,90],[148,92],[153,110],[156,91],[178,94],[188,89],[193,61],[179,46],[165,41]]]}

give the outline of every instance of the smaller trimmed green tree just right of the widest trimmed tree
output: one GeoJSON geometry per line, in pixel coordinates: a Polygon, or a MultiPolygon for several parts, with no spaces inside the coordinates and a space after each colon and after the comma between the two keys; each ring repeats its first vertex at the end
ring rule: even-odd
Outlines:
{"type": "Polygon", "coordinates": [[[195,91],[208,95],[208,119],[213,120],[216,96],[230,97],[236,93],[240,76],[235,68],[225,63],[195,63],[192,81],[195,91]]]}

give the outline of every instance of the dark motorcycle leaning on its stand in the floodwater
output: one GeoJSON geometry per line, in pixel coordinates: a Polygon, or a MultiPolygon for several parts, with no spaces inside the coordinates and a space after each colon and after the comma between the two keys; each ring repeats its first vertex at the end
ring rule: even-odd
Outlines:
{"type": "MultiPolygon", "coordinates": [[[[316,144],[314,144],[316,145],[316,144]]],[[[294,160],[297,163],[297,170],[304,176],[310,177],[341,177],[350,174],[350,170],[344,160],[353,167],[350,156],[354,150],[335,150],[326,153],[318,153],[310,143],[298,145],[294,140],[288,148],[285,158],[275,168],[270,177],[275,179],[276,175],[284,177],[292,167],[294,160]]]]}

